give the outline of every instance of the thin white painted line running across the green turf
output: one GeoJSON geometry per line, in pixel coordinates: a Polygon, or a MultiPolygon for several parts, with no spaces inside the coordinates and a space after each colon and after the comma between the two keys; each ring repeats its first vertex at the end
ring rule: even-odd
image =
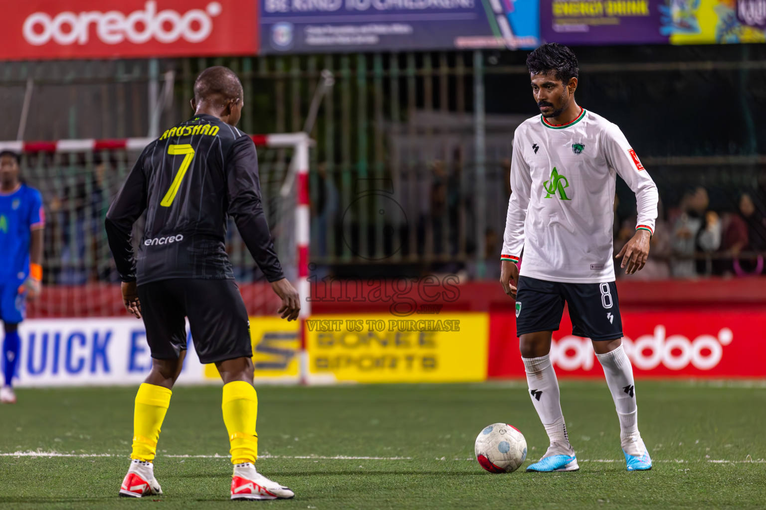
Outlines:
{"type": "MultiPolygon", "coordinates": [[[[59,452],[43,452],[43,451],[25,451],[25,452],[13,452],[13,453],[0,453],[0,456],[6,456],[6,457],[123,457],[124,454],[120,453],[59,453],[59,452]]],[[[218,453],[214,455],[168,455],[168,454],[158,454],[158,456],[161,457],[169,457],[171,459],[229,459],[231,458],[230,455],[218,455],[218,453]]],[[[379,457],[379,456],[349,456],[349,455],[333,455],[333,456],[325,456],[325,455],[259,455],[259,459],[313,459],[313,460],[413,460],[413,457],[402,457],[402,456],[395,456],[395,457],[379,457]]],[[[437,458],[435,460],[447,460],[444,457],[437,458]]],[[[452,460],[470,460],[474,461],[473,457],[467,458],[467,459],[452,459],[452,460]]],[[[615,459],[584,459],[584,460],[578,460],[578,462],[594,462],[594,463],[621,463],[624,462],[624,460],[615,460],[615,459]]],[[[700,460],[684,460],[684,459],[654,459],[652,462],[655,463],[676,463],[676,464],[686,464],[690,462],[706,462],[706,463],[713,463],[713,464],[766,464],[766,459],[755,459],[752,460],[749,458],[746,458],[745,460],[725,460],[725,459],[700,459],[700,460]]]]}

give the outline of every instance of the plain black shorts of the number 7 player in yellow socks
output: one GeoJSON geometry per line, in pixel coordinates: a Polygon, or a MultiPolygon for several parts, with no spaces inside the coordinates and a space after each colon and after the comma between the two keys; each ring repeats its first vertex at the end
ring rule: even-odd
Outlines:
{"type": "Polygon", "coordinates": [[[178,359],[186,349],[186,322],[199,360],[252,357],[250,321],[234,280],[171,278],[138,286],[152,358],[178,359]]]}

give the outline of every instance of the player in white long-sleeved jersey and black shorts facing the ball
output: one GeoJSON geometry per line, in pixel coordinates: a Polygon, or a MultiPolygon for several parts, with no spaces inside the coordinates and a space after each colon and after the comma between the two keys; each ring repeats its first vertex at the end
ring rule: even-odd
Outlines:
{"type": "Polygon", "coordinates": [[[572,334],[593,341],[604,368],[627,469],[651,469],[638,431],[633,369],[621,342],[612,225],[619,174],[636,193],[638,222],[636,235],[616,258],[627,273],[643,268],[657,216],[657,189],[620,128],[575,102],[578,60],[568,47],[544,44],[526,63],[542,115],[519,125],[513,138],[500,281],[516,298],[516,334],[529,394],[551,441],[527,471],[579,469],[549,358],[565,302],[572,334]]]}

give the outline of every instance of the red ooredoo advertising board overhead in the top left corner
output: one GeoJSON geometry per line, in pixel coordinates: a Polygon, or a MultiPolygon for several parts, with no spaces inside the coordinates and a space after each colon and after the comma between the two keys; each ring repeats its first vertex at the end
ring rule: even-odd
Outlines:
{"type": "Polygon", "coordinates": [[[257,51],[254,0],[28,0],[0,18],[0,59],[241,55],[257,51]]]}

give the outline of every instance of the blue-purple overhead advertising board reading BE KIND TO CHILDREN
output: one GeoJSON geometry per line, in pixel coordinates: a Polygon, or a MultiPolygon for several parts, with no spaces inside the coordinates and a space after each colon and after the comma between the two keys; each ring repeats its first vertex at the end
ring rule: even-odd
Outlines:
{"type": "Polygon", "coordinates": [[[260,0],[260,53],[529,49],[538,0],[260,0]]]}

